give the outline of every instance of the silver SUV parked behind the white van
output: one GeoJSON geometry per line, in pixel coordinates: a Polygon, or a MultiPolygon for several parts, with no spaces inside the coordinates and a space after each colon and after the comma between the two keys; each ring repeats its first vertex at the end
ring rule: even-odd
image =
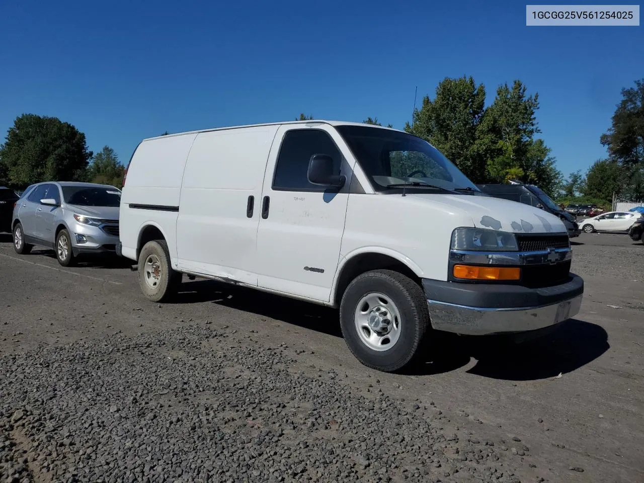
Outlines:
{"type": "Polygon", "coordinates": [[[44,182],[24,190],[14,207],[14,249],[52,248],[64,267],[77,256],[115,253],[120,189],[94,183],[44,182]]]}

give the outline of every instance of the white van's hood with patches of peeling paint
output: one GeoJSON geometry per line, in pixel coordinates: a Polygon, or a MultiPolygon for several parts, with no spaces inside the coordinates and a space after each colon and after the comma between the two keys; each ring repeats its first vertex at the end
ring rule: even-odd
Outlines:
{"type": "Polygon", "coordinates": [[[564,222],[542,209],[491,196],[407,194],[410,198],[442,204],[446,211],[463,211],[476,228],[513,233],[567,233],[564,222]]]}

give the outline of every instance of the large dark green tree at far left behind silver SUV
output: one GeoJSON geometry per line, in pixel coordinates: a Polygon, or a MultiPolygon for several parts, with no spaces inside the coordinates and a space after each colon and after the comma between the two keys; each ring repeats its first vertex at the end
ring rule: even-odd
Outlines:
{"type": "Polygon", "coordinates": [[[92,156],[85,135],[59,118],[23,114],[0,145],[0,172],[12,187],[82,180],[92,156]]]}

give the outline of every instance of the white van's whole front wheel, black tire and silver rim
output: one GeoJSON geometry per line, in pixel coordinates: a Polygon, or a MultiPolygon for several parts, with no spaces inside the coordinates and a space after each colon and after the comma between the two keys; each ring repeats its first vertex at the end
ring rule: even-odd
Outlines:
{"type": "Polygon", "coordinates": [[[340,325],[361,363],[395,372],[413,360],[430,326],[427,300],[421,287],[399,272],[365,272],[345,290],[340,325]]]}

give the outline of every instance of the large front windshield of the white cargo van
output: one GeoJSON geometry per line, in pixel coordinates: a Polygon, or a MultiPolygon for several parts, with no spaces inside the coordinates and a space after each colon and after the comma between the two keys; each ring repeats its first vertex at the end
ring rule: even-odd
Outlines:
{"type": "Polygon", "coordinates": [[[419,137],[368,126],[336,129],[376,191],[400,191],[402,185],[410,183],[410,188],[432,193],[441,193],[441,189],[480,193],[459,168],[419,137]]]}

